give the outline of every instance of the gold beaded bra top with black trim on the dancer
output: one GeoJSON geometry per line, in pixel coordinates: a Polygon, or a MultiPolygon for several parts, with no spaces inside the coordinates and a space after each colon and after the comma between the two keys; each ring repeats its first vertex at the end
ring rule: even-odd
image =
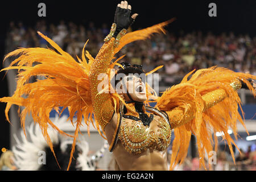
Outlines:
{"type": "Polygon", "coordinates": [[[151,123],[145,125],[138,119],[129,118],[136,115],[134,111],[124,114],[123,104],[119,107],[118,131],[115,134],[114,144],[110,151],[114,150],[118,140],[130,154],[141,154],[148,148],[158,151],[167,149],[171,142],[171,126],[168,115],[153,107],[145,106],[145,111],[150,112],[151,123]]]}

